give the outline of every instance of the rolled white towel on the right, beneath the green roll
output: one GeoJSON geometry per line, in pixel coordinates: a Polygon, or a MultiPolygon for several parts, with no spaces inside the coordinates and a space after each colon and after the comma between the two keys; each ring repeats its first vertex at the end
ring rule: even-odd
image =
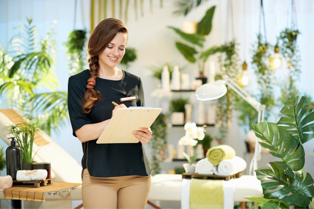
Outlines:
{"type": "Polygon", "coordinates": [[[215,175],[234,175],[246,169],[246,162],[241,157],[235,156],[232,159],[221,160],[217,168],[214,168],[215,175]]]}

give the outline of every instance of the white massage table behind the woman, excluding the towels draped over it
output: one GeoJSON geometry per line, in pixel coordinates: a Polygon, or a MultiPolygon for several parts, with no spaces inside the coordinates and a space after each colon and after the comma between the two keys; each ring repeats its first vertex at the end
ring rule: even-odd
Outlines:
{"type": "MultiPolygon", "coordinates": [[[[181,174],[157,174],[152,176],[152,185],[149,193],[149,204],[160,208],[151,201],[181,201],[181,174]]],[[[234,201],[241,202],[241,208],[246,208],[243,197],[262,197],[263,188],[260,180],[253,175],[242,175],[234,179],[234,201]]]]}

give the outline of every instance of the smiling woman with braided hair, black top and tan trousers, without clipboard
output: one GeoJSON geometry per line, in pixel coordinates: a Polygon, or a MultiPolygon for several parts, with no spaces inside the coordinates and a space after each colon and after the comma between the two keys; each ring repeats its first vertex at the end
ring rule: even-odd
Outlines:
{"type": "Polygon", "coordinates": [[[96,144],[118,108],[144,106],[141,79],[116,67],[125,54],[127,38],[127,28],[120,20],[103,20],[88,40],[89,70],[68,81],[73,135],[82,142],[84,152],[84,208],[146,207],[152,170],[142,144],[149,142],[152,131],[134,130],[138,143],[96,144]]]}

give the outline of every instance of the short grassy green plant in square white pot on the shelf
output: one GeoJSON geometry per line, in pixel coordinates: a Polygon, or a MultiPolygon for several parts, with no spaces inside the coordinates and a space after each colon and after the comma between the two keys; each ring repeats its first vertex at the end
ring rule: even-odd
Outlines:
{"type": "Polygon", "coordinates": [[[170,101],[171,123],[173,125],[183,125],[185,118],[185,105],[189,103],[189,99],[182,97],[173,98],[170,101]]]}

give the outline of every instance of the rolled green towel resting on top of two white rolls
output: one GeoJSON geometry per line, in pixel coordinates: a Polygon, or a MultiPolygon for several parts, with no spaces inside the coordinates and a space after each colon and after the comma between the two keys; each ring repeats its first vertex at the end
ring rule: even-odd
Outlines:
{"type": "Polygon", "coordinates": [[[221,160],[232,159],[236,156],[236,151],[229,145],[219,145],[208,149],[206,153],[207,159],[214,165],[217,166],[221,160]]]}

